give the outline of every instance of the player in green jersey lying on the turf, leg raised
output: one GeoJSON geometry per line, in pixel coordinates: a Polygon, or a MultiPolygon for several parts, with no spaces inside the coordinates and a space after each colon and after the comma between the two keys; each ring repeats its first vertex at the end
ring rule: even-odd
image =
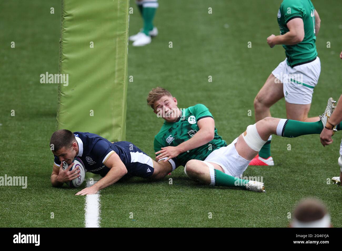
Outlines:
{"type": "Polygon", "coordinates": [[[154,139],[156,161],[169,162],[165,165],[166,171],[184,166],[189,178],[207,185],[265,192],[263,182],[238,177],[242,176],[268,137],[272,134],[288,138],[320,134],[333,111],[334,102],[329,99],[324,115],[317,122],[266,117],[249,125],[227,145],[218,135],[213,115],[205,105],[179,109],[177,99],[166,89],[157,87],[147,97],[147,104],[157,117],[165,120],[154,139]]]}

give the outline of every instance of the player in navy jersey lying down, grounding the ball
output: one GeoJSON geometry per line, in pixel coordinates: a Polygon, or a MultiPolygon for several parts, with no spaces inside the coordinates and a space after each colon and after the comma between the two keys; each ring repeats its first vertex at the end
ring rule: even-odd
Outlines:
{"type": "Polygon", "coordinates": [[[164,178],[174,170],[169,162],[157,163],[146,153],[127,141],[110,142],[92,133],[69,130],[55,131],[50,139],[53,146],[54,164],[51,174],[52,186],[62,186],[79,176],[79,169],[60,168],[62,162],[73,166],[77,156],[83,162],[86,172],[101,175],[103,178],[76,195],[96,194],[99,190],[114,184],[125,177],[142,177],[152,180],[164,178]]]}

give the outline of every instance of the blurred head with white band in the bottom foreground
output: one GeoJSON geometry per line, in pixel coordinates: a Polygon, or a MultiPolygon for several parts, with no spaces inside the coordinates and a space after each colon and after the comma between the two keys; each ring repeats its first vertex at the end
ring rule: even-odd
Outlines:
{"type": "Polygon", "coordinates": [[[331,227],[330,215],[321,201],[304,199],[294,209],[290,227],[331,227]]]}

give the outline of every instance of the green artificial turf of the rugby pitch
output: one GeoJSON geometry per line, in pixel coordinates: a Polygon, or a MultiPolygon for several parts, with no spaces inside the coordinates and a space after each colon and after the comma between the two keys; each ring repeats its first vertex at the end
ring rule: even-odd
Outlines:
{"type": "MultiPolygon", "coordinates": [[[[146,98],[156,86],[167,88],[179,108],[205,104],[219,135],[228,143],[253,124],[253,99],[285,59],[282,46],[271,49],[266,43],[269,35],[279,34],[280,3],[159,1],[154,21],[159,35],[147,46],[129,45],[128,75],[133,82],[128,83],[126,140],[154,156],[153,138],[163,120],[146,105],[146,98]],[[208,14],[209,7],[212,14],[208,14]]],[[[132,35],[142,27],[142,19],[135,1],[130,4],[132,35]]],[[[323,113],[329,97],[339,98],[342,80],[342,3],[316,0],[313,4],[321,18],[316,41],[321,74],[309,116],[323,113]]],[[[50,184],[53,155],[49,142],[56,125],[57,85],[39,82],[41,73],[58,72],[61,3],[3,1],[0,8],[0,176],[28,179],[27,189],[0,186],[0,227],[83,227],[85,198],[74,196],[79,189],[56,189],[50,184]],[[51,7],[55,14],[50,14],[51,7]],[[10,47],[12,41],[15,48],[10,47]]],[[[284,100],[271,113],[285,117],[284,100]]],[[[244,173],[262,177],[266,194],[200,185],[185,176],[183,167],[158,182],[140,178],[119,182],[100,192],[100,225],[286,227],[288,212],[297,202],[314,196],[326,204],[332,224],[341,227],[338,201],[342,190],[327,184],[328,178],[339,174],[341,135],[336,133],[334,142],[325,148],[319,135],[274,136],[275,166],[249,167],[244,173]]]]}

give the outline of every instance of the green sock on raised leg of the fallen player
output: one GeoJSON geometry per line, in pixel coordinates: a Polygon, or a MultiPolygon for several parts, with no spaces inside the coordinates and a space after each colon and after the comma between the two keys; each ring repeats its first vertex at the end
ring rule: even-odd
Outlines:
{"type": "Polygon", "coordinates": [[[307,134],[320,134],[323,130],[323,123],[301,122],[297,120],[287,120],[282,129],[282,137],[295,138],[307,134]]]}

